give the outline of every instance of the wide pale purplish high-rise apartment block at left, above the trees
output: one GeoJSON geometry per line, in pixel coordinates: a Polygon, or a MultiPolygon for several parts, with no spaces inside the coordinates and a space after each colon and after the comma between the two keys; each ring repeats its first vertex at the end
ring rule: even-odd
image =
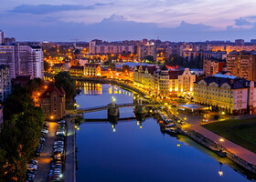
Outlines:
{"type": "Polygon", "coordinates": [[[10,66],[11,78],[44,77],[43,51],[37,45],[0,45],[0,65],[10,66]]]}

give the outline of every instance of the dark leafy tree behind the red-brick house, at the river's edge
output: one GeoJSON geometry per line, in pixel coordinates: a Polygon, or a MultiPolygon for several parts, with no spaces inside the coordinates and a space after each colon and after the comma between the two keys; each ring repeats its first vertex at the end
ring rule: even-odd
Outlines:
{"type": "Polygon", "coordinates": [[[76,83],[75,80],[69,75],[68,72],[60,72],[55,78],[55,86],[60,89],[62,86],[66,92],[66,99],[73,100],[76,96],[76,83]]]}

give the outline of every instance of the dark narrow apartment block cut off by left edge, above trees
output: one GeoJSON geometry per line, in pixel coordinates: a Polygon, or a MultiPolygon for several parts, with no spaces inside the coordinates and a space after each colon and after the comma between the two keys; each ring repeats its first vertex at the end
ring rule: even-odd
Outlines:
{"type": "Polygon", "coordinates": [[[7,96],[11,94],[11,77],[10,67],[0,66],[0,100],[5,101],[7,96]]]}

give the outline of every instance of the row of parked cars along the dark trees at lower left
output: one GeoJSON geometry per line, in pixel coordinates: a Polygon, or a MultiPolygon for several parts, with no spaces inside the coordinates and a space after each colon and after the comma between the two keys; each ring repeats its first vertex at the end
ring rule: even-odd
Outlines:
{"type": "MultiPolygon", "coordinates": [[[[37,147],[37,150],[36,150],[35,157],[40,157],[41,156],[41,152],[44,148],[44,144],[45,144],[46,138],[48,136],[48,126],[49,126],[49,124],[45,123],[44,127],[41,131],[41,138],[40,138],[40,142],[39,142],[39,145],[37,147]]],[[[26,182],[34,181],[36,174],[37,174],[37,160],[32,159],[30,161],[30,163],[27,164],[27,174],[26,174],[26,180],[25,181],[26,182]]]]}

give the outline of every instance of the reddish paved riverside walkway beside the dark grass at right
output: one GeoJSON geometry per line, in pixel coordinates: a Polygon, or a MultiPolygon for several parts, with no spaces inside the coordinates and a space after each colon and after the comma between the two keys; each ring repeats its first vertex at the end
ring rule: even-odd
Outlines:
{"type": "Polygon", "coordinates": [[[222,147],[224,147],[226,150],[228,150],[230,153],[237,155],[238,157],[242,158],[243,160],[250,162],[252,165],[256,165],[256,154],[251,152],[250,150],[240,147],[237,144],[229,141],[228,139],[224,138],[224,142],[220,143],[219,138],[222,138],[221,136],[209,131],[208,129],[202,127],[202,126],[191,126],[190,129],[193,129],[197,131],[197,133],[208,137],[210,140],[218,143],[222,147]]]}

